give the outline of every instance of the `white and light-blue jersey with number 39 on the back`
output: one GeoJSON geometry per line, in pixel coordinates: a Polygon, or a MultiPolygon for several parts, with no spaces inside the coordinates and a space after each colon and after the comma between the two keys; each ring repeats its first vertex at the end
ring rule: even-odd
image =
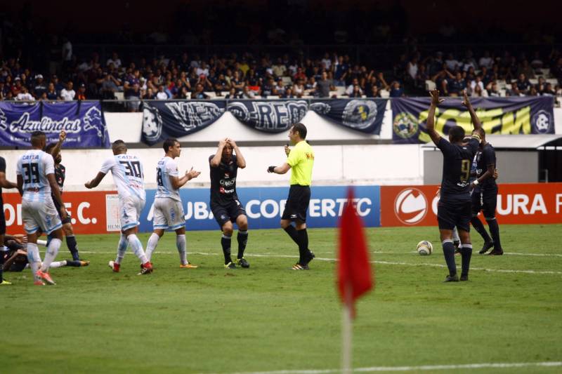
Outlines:
{"type": "Polygon", "coordinates": [[[31,149],[18,160],[15,173],[23,179],[23,200],[44,202],[51,199],[51,185],[47,175],[55,173],[53,156],[39,149],[31,149]]]}

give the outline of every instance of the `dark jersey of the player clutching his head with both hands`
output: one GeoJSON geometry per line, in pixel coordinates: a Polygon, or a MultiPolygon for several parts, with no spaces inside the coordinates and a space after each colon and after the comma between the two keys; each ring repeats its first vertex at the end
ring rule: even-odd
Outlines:
{"type": "MultiPolygon", "coordinates": [[[[215,155],[209,156],[209,166],[211,159],[215,155]]],[[[233,154],[228,163],[221,163],[216,168],[211,167],[211,203],[225,205],[231,201],[238,200],[236,194],[236,174],[238,165],[236,155],[233,154]]]]}

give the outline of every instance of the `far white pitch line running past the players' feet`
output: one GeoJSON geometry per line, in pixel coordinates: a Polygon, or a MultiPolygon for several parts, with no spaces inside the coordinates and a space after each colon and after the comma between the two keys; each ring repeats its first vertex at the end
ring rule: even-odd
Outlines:
{"type": "MultiPolygon", "coordinates": [[[[95,252],[95,251],[80,251],[80,253],[96,253],[101,255],[115,255],[115,252],[95,252]]],[[[153,255],[177,255],[177,252],[154,252],[153,255]]],[[[188,252],[188,255],[204,255],[204,256],[218,256],[222,255],[222,253],[207,253],[207,252],[188,252]]],[[[257,254],[251,253],[246,254],[247,257],[273,257],[273,258],[299,258],[296,255],[270,255],[270,254],[257,254]]],[[[316,257],[315,260],[318,261],[329,261],[335,262],[335,258],[319,258],[316,257]]],[[[396,261],[371,261],[372,264],[381,264],[381,265],[400,265],[400,266],[429,266],[429,267],[447,267],[447,265],[443,264],[427,264],[427,263],[417,263],[414,264],[412,262],[396,262],[396,261]]],[[[562,275],[562,272],[555,272],[554,270],[513,270],[513,269],[487,269],[485,267],[471,267],[471,270],[483,270],[485,272],[495,272],[495,273],[522,273],[522,274],[554,274],[554,275],[562,275]]]]}

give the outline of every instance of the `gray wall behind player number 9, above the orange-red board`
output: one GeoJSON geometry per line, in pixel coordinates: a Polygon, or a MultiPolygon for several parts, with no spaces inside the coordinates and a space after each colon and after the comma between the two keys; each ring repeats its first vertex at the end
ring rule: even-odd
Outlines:
{"type": "MultiPolygon", "coordinates": [[[[498,183],[539,181],[539,152],[501,151],[496,149],[498,183]]],[[[424,185],[441,183],[443,154],[439,150],[424,151],[424,185]]]]}

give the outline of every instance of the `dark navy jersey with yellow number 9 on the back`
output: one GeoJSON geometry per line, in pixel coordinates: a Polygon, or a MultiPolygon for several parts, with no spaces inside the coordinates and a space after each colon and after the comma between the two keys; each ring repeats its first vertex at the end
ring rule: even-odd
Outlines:
{"type": "Polygon", "coordinates": [[[475,138],[466,145],[451,144],[443,138],[437,142],[437,147],[443,153],[441,200],[470,200],[470,169],[478,151],[478,143],[475,138]]]}

